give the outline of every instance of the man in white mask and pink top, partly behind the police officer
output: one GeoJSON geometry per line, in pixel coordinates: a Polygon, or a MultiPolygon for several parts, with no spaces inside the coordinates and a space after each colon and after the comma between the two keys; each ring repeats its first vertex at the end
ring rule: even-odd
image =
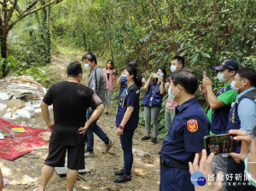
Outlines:
{"type": "MultiPolygon", "coordinates": [[[[176,55],[172,58],[171,61],[171,72],[174,72],[178,69],[184,67],[184,58],[182,56],[176,55]]],[[[172,123],[172,119],[175,116],[175,107],[177,107],[177,102],[173,101],[172,97],[170,97],[171,89],[170,89],[171,75],[166,78],[166,92],[168,92],[168,98],[166,101],[166,110],[165,110],[165,128],[169,130],[169,127],[172,123]]]]}

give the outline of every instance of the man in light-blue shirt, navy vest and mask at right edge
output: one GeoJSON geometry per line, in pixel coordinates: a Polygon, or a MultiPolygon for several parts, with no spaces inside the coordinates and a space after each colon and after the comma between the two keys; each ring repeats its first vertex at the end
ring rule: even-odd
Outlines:
{"type": "MultiPolygon", "coordinates": [[[[246,130],[252,136],[253,127],[256,125],[256,71],[251,68],[243,68],[236,72],[236,76],[231,83],[231,89],[237,91],[234,105],[230,109],[227,123],[227,132],[229,130],[246,130]]],[[[241,142],[237,142],[236,153],[241,150],[241,142]]],[[[245,170],[245,164],[239,159],[229,157],[227,163],[228,174],[241,174],[245,170]]],[[[243,177],[243,176],[242,176],[243,177]]],[[[256,190],[248,186],[247,181],[232,180],[227,184],[228,190],[256,190]],[[234,186],[233,182],[236,182],[234,186]],[[238,184],[240,182],[240,184],[238,184]],[[245,186],[246,185],[246,186],[245,186]]]]}

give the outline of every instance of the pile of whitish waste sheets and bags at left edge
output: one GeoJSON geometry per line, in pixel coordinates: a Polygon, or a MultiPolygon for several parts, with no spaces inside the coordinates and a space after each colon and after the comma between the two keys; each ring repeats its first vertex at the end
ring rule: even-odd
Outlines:
{"type": "Polygon", "coordinates": [[[40,104],[45,93],[46,89],[31,76],[0,79],[0,114],[3,114],[2,118],[31,119],[35,113],[41,112],[40,104]]]}

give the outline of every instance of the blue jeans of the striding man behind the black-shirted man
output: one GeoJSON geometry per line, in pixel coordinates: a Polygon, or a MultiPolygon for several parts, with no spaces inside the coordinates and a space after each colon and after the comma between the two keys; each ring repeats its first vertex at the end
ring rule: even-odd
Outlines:
{"type": "MultiPolygon", "coordinates": [[[[93,109],[89,108],[89,110],[86,113],[86,118],[90,119],[91,114],[93,113],[93,109]]],[[[95,133],[97,136],[99,136],[102,139],[102,142],[105,142],[105,144],[109,144],[109,139],[106,133],[102,130],[102,128],[97,124],[97,119],[90,124],[88,130],[86,131],[88,141],[86,142],[86,149],[89,152],[93,151],[94,146],[94,137],[93,133],[95,133]]]]}

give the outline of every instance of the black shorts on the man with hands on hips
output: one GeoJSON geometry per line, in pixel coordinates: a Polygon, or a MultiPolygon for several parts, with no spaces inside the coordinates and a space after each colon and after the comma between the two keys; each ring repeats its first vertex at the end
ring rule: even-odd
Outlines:
{"type": "Polygon", "coordinates": [[[84,144],[75,146],[59,145],[49,142],[49,154],[44,165],[52,167],[64,167],[67,152],[67,168],[70,170],[82,170],[84,166],[84,144]]]}

